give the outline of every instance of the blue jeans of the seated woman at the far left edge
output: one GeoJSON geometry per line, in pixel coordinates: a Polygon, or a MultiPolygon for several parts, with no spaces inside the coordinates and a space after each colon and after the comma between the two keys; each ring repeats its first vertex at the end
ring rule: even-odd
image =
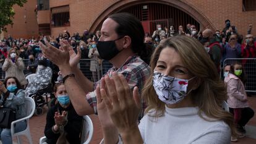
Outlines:
{"type": "MultiPolygon", "coordinates": [[[[15,124],[14,132],[20,132],[22,130],[25,130],[27,127],[27,122],[22,121],[15,124]]],[[[12,137],[11,137],[11,129],[2,129],[0,128],[1,133],[1,141],[2,144],[12,144],[12,137]]]]}

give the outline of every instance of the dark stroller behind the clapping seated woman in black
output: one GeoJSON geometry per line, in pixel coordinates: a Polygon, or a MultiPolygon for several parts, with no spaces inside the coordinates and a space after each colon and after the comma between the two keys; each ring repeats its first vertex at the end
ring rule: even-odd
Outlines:
{"type": "Polygon", "coordinates": [[[36,91],[36,93],[30,95],[30,97],[35,101],[35,115],[38,116],[43,114],[43,106],[47,104],[48,108],[50,108],[49,103],[51,100],[49,100],[49,98],[55,98],[52,84],[49,84],[46,88],[36,91]]]}

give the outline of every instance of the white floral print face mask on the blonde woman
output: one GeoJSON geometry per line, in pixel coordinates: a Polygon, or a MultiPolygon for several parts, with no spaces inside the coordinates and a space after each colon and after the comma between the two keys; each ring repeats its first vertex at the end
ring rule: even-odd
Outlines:
{"type": "MultiPolygon", "coordinates": [[[[195,77],[190,78],[192,80],[195,77]]],[[[153,87],[158,98],[166,104],[175,104],[183,100],[192,89],[187,92],[189,80],[184,80],[154,71],[153,87]]]]}

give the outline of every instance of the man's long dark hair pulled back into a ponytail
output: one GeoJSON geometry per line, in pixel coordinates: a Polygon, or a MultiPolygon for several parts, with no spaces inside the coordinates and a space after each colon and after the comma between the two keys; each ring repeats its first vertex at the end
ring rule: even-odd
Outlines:
{"type": "Polygon", "coordinates": [[[148,52],[147,47],[144,44],[144,29],[142,23],[134,15],[122,12],[109,15],[109,19],[118,23],[116,27],[116,33],[118,36],[130,36],[132,40],[132,51],[137,53],[140,58],[149,64],[148,61],[152,53],[148,52]]]}

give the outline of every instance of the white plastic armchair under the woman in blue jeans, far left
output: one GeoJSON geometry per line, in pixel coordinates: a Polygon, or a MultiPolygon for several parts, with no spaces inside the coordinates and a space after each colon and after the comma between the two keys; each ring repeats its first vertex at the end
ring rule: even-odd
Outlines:
{"type": "Polygon", "coordinates": [[[30,129],[29,129],[28,121],[29,121],[30,117],[32,117],[34,112],[35,112],[35,101],[32,98],[26,97],[25,98],[25,107],[27,109],[26,116],[23,117],[22,119],[17,119],[16,121],[13,121],[11,123],[11,135],[12,135],[12,138],[17,137],[17,140],[18,140],[19,144],[22,143],[20,138],[19,138],[19,135],[25,135],[28,138],[29,143],[33,144],[32,137],[30,135],[30,129]],[[21,132],[14,133],[14,124],[16,124],[17,122],[20,122],[20,121],[26,121],[27,122],[27,127],[26,127],[25,130],[22,130],[21,132]]]}

